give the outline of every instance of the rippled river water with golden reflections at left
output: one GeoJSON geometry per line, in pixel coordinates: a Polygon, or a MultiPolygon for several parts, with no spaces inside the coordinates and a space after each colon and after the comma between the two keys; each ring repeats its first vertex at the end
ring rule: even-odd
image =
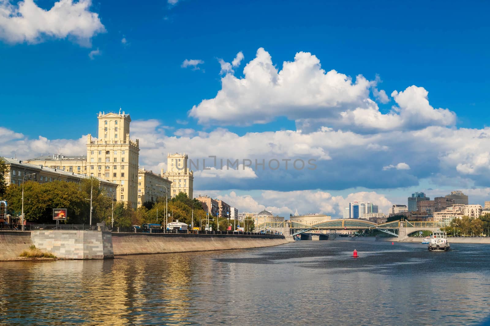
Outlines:
{"type": "Polygon", "coordinates": [[[106,261],[3,261],[0,325],[479,325],[490,315],[490,247],[452,247],[298,241],[106,261]]]}

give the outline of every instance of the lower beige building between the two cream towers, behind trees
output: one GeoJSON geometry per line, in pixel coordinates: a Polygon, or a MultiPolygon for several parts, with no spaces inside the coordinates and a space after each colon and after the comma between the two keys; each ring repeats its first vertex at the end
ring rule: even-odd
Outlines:
{"type": "Polygon", "coordinates": [[[166,198],[170,195],[172,182],[154,174],[152,171],[147,171],[145,168],[138,170],[138,207],[147,201],[156,202],[158,198],[166,198]],[[165,187],[167,188],[165,188],[165,187]],[[167,193],[167,190],[169,193],[167,193]]]}

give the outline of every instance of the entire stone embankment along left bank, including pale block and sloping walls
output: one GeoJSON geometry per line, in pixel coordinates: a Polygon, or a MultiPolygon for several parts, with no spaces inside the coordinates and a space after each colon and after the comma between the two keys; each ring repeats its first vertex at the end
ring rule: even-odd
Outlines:
{"type": "Polygon", "coordinates": [[[270,247],[288,243],[267,235],[148,234],[40,230],[0,232],[0,260],[19,257],[30,245],[65,259],[108,259],[118,255],[163,254],[270,247]]]}

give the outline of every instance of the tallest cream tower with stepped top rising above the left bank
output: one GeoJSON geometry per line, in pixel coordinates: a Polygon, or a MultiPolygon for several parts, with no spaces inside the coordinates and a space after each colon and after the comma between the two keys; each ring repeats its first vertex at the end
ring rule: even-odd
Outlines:
{"type": "Polygon", "coordinates": [[[118,201],[137,207],[139,140],[129,138],[131,118],[120,113],[98,113],[98,137],[87,136],[87,174],[119,184],[118,201]]]}

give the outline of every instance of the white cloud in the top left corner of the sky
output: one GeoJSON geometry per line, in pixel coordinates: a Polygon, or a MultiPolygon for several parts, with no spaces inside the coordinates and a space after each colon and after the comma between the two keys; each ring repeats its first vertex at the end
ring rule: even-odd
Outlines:
{"type": "Polygon", "coordinates": [[[0,38],[8,43],[40,43],[47,38],[71,38],[90,46],[91,38],[105,32],[97,13],[90,11],[90,0],[60,0],[49,10],[33,0],[0,1],[0,38]]]}

